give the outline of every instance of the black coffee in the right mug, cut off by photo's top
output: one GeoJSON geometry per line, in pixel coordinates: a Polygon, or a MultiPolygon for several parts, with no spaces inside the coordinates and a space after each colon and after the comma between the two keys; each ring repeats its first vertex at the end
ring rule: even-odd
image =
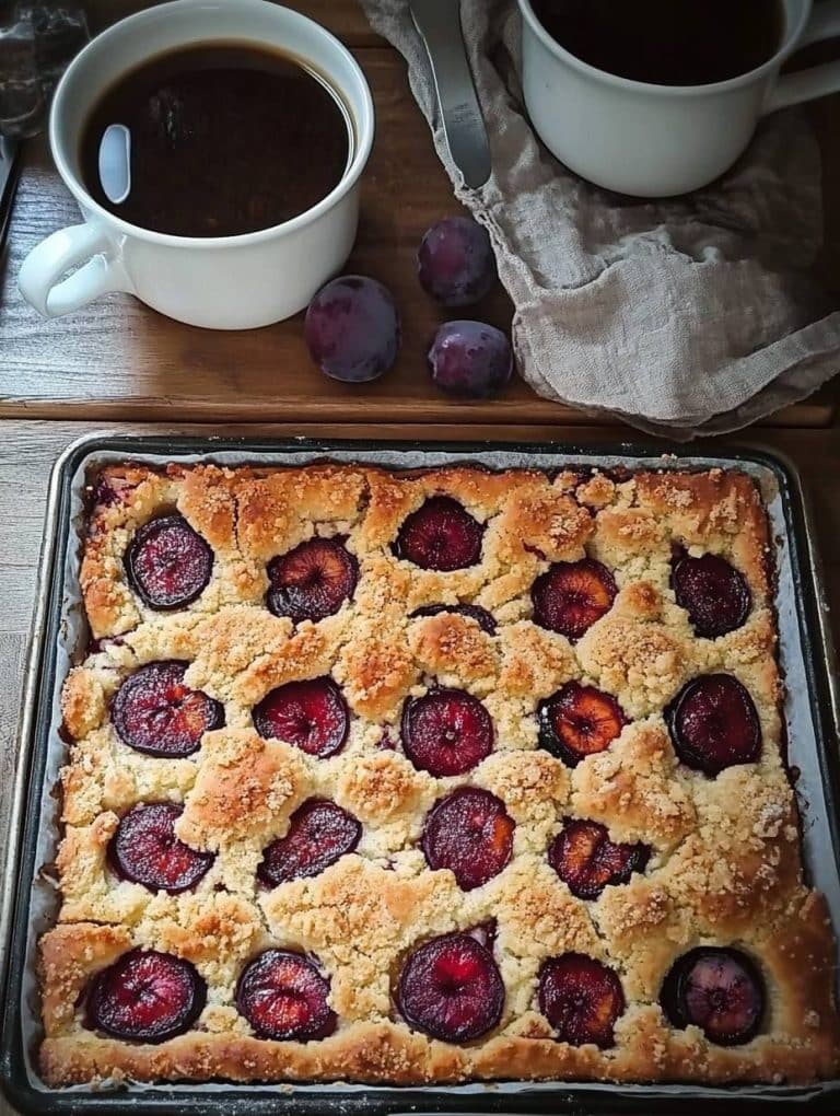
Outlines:
{"type": "Polygon", "coordinates": [[[784,38],[782,0],[532,0],[552,39],[581,61],[653,85],[749,74],[784,38]]]}

